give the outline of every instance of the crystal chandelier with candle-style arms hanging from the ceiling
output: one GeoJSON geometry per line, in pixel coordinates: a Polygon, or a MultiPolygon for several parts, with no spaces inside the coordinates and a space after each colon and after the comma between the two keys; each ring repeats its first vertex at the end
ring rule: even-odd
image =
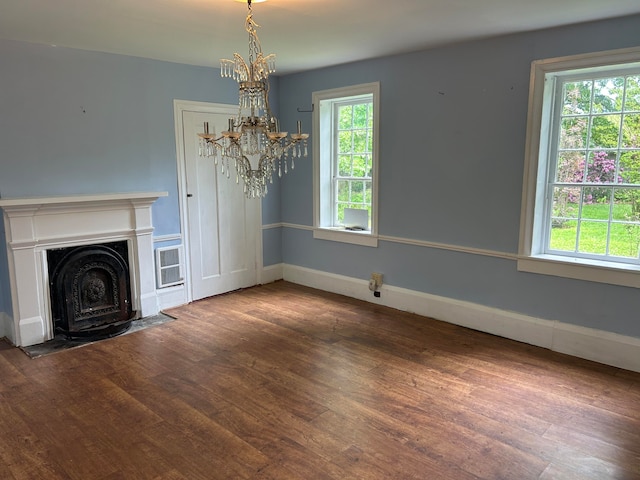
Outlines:
{"type": "Polygon", "coordinates": [[[302,133],[298,121],[297,133],[288,135],[280,131],[278,119],[269,107],[269,74],[275,71],[275,54],[264,56],[251,12],[251,0],[247,0],[248,13],[245,29],[249,33],[248,63],[238,53],[233,60],[220,60],[220,74],[233,78],[239,86],[238,115],[229,119],[229,129],[216,136],[204,123],[204,133],[199,133],[200,156],[213,157],[222,165],[222,173],[230,176],[231,164],[235,166],[236,183],[242,179],[248,198],[262,198],[267,194],[267,183],[273,182],[273,174],[287,173],[293,169],[294,159],[307,156],[309,134],[302,133]],[[253,162],[253,163],[252,163],[253,162]]]}

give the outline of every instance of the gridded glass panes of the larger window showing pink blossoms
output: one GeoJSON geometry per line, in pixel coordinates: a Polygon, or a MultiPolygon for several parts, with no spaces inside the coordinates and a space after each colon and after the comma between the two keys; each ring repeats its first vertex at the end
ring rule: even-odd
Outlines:
{"type": "Polygon", "coordinates": [[[547,250],[638,262],[640,71],[556,76],[547,250]],[[606,75],[602,77],[602,75],[606,75]]]}

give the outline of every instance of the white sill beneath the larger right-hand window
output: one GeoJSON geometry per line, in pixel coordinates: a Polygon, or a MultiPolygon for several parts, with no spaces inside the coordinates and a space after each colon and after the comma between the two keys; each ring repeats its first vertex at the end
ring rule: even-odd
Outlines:
{"type": "Polygon", "coordinates": [[[518,271],[640,288],[640,266],[556,255],[518,258],[518,271]]]}

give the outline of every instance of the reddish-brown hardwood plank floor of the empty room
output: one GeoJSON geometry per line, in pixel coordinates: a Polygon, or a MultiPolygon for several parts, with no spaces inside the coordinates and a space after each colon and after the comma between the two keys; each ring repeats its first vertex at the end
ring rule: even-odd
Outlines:
{"type": "Polygon", "coordinates": [[[640,373],[286,282],[168,313],[0,347],[0,478],[640,479],[640,373]]]}

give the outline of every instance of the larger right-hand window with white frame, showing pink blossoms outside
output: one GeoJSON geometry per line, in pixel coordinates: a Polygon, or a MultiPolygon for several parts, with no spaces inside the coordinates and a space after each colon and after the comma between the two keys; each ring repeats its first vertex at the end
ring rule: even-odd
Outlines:
{"type": "Polygon", "coordinates": [[[532,65],[521,270],[640,287],[640,49],[532,65]]]}

